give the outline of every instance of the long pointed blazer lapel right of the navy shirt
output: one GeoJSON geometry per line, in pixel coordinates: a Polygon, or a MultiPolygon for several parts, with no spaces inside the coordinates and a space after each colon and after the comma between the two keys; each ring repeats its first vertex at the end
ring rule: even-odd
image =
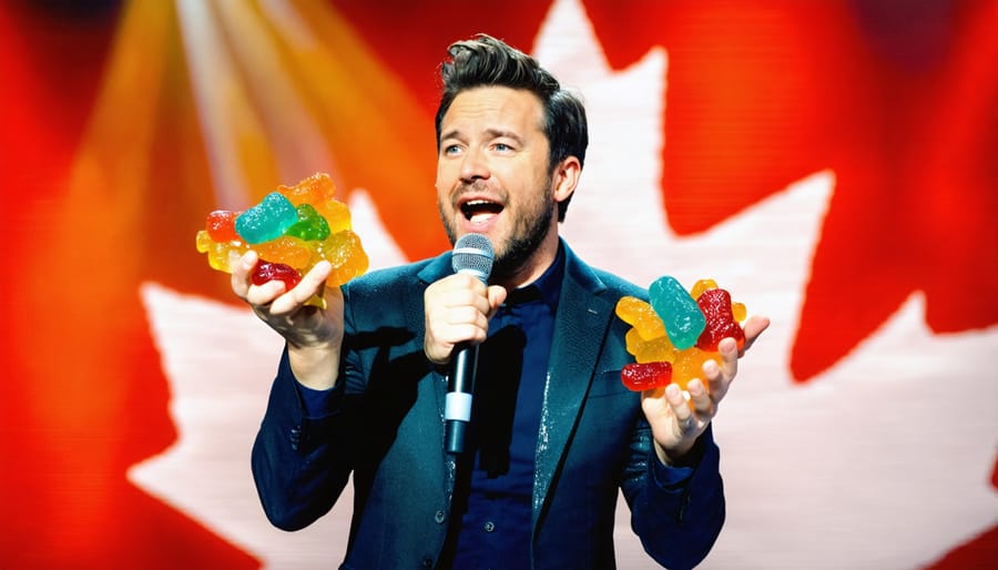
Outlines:
{"type": "Polygon", "coordinates": [[[566,446],[574,432],[585,394],[595,373],[613,305],[597,294],[600,279],[564,245],[566,268],[554,320],[548,384],[538,434],[533,479],[533,522],[558,472],[566,446]]]}

